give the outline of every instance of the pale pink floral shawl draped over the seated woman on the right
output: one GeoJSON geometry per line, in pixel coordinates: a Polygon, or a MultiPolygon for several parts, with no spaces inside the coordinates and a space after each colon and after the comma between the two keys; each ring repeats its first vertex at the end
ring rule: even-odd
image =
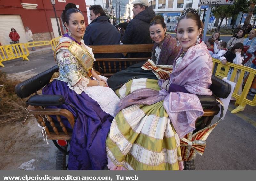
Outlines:
{"type": "MultiPolygon", "coordinates": [[[[185,87],[188,92],[171,92],[164,99],[166,109],[172,125],[182,138],[195,129],[195,121],[204,114],[198,97],[195,95],[212,95],[209,89],[212,81],[212,58],[204,42],[190,47],[183,60],[175,69],[177,58],[174,60],[173,72],[170,74],[170,83],[185,87]]],[[[162,84],[159,81],[159,84],[162,84]]],[[[161,85],[160,85],[161,86],[161,85]]],[[[165,90],[159,94],[166,94],[165,90]]]]}

